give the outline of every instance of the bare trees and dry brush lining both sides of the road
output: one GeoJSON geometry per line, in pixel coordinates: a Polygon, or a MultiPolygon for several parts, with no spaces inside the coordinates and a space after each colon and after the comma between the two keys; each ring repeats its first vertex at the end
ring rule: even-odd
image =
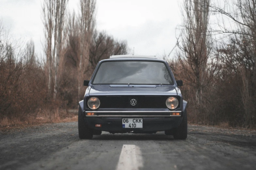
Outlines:
{"type": "MultiPolygon", "coordinates": [[[[84,79],[110,55],[126,54],[125,41],[95,29],[95,0],[43,0],[44,60],[33,41],[23,48],[0,24],[0,125],[71,120],[84,79]]],[[[188,105],[191,123],[256,127],[255,0],[184,0],[177,58],[169,61],[188,105]],[[210,19],[217,18],[211,28],[210,19]]]]}

